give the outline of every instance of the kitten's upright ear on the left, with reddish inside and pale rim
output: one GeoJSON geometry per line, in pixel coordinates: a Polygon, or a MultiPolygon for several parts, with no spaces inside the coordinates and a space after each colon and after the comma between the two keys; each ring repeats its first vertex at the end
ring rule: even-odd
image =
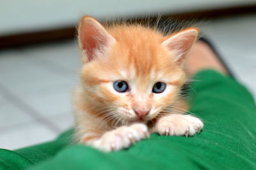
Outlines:
{"type": "Polygon", "coordinates": [[[78,41],[83,63],[104,56],[108,47],[116,42],[97,20],[88,16],[83,17],[79,23],[78,41]]]}

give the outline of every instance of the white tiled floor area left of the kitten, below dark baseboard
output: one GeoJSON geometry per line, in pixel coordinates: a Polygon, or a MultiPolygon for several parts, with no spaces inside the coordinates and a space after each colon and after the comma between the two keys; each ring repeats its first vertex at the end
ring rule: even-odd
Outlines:
{"type": "Polygon", "coordinates": [[[49,141],[73,125],[79,68],[74,41],[0,52],[0,148],[49,141]]]}

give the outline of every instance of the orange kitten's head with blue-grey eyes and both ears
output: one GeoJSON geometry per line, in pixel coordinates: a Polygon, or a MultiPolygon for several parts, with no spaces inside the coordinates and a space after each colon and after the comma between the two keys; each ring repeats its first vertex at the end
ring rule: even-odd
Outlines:
{"type": "Polygon", "coordinates": [[[78,40],[85,100],[100,116],[121,123],[156,118],[179,96],[184,58],[198,32],[189,27],[163,36],[138,24],[104,28],[83,17],[78,40]]]}

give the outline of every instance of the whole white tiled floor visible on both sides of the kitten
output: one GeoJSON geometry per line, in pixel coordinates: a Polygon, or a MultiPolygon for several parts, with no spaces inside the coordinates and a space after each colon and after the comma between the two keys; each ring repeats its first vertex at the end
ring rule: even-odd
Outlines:
{"type": "MultiPolygon", "coordinates": [[[[256,96],[256,15],[202,24],[238,79],[256,96]]],[[[72,87],[80,68],[75,41],[0,51],[0,148],[54,139],[73,125],[72,87]]]]}

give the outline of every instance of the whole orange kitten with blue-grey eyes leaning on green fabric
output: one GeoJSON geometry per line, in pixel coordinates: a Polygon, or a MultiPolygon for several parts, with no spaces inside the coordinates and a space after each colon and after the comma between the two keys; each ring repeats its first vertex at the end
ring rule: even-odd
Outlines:
{"type": "Polygon", "coordinates": [[[78,28],[83,68],[74,91],[76,139],[102,151],[149,137],[194,135],[204,126],[186,112],[180,89],[184,59],[199,29],[163,36],[140,24],[103,27],[83,17],[78,28]]]}

